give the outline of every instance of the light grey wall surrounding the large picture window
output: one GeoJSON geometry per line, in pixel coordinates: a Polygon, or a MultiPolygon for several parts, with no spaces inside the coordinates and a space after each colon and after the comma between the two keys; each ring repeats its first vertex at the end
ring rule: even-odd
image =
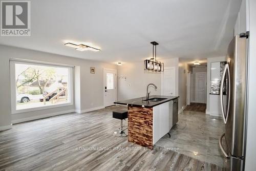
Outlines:
{"type": "MultiPolygon", "coordinates": [[[[0,46],[0,76],[2,80],[2,85],[0,87],[0,127],[9,126],[12,122],[16,123],[20,121],[25,121],[25,118],[36,119],[46,114],[59,114],[75,110],[75,104],[73,104],[61,108],[53,108],[48,110],[40,110],[35,112],[26,112],[11,115],[9,58],[20,58],[79,66],[81,112],[90,109],[101,108],[103,106],[103,68],[105,67],[116,69],[115,65],[111,65],[108,63],[72,58],[8,46],[0,46]],[[95,74],[90,73],[90,67],[96,68],[95,74]]],[[[75,73],[75,79],[77,78],[79,78],[79,76],[76,76],[75,73]]],[[[75,103],[79,103],[76,98],[75,103]]]]}

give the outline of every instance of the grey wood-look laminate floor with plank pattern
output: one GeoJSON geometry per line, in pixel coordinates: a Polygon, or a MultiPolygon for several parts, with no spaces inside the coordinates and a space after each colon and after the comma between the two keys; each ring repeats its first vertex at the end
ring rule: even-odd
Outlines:
{"type": "Polygon", "coordinates": [[[122,107],[13,125],[0,132],[0,170],[221,170],[175,151],[141,150],[127,138],[112,136],[119,126],[112,118],[116,108],[122,107]]]}

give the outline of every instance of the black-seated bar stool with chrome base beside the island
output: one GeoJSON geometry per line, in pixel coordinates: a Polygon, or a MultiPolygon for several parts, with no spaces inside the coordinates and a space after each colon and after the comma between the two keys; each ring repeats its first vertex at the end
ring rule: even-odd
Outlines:
{"type": "Polygon", "coordinates": [[[113,118],[120,119],[120,128],[119,130],[114,131],[113,135],[115,137],[126,137],[127,135],[123,132],[123,119],[125,120],[128,117],[128,112],[125,110],[116,110],[113,111],[113,118]]]}

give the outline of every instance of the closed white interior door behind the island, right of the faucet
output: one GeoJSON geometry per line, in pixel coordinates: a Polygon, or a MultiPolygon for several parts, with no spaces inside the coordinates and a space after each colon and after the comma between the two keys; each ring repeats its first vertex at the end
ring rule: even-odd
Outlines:
{"type": "Polygon", "coordinates": [[[174,96],[175,92],[175,68],[164,68],[162,73],[162,95],[174,96]]]}

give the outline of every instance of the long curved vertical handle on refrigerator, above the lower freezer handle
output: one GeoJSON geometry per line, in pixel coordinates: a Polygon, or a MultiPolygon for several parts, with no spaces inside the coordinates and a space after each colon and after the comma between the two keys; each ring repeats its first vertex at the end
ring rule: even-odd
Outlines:
{"type": "Polygon", "coordinates": [[[229,69],[228,64],[225,65],[224,72],[223,72],[223,75],[221,78],[220,98],[221,98],[221,112],[222,112],[222,116],[223,116],[223,121],[226,124],[227,118],[228,118],[228,113],[229,113],[229,105],[230,105],[230,69],[229,69]],[[228,77],[228,101],[227,101],[227,111],[225,114],[224,105],[223,105],[223,85],[224,85],[224,81],[225,81],[226,72],[227,72],[227,77],[228,77]]]}

